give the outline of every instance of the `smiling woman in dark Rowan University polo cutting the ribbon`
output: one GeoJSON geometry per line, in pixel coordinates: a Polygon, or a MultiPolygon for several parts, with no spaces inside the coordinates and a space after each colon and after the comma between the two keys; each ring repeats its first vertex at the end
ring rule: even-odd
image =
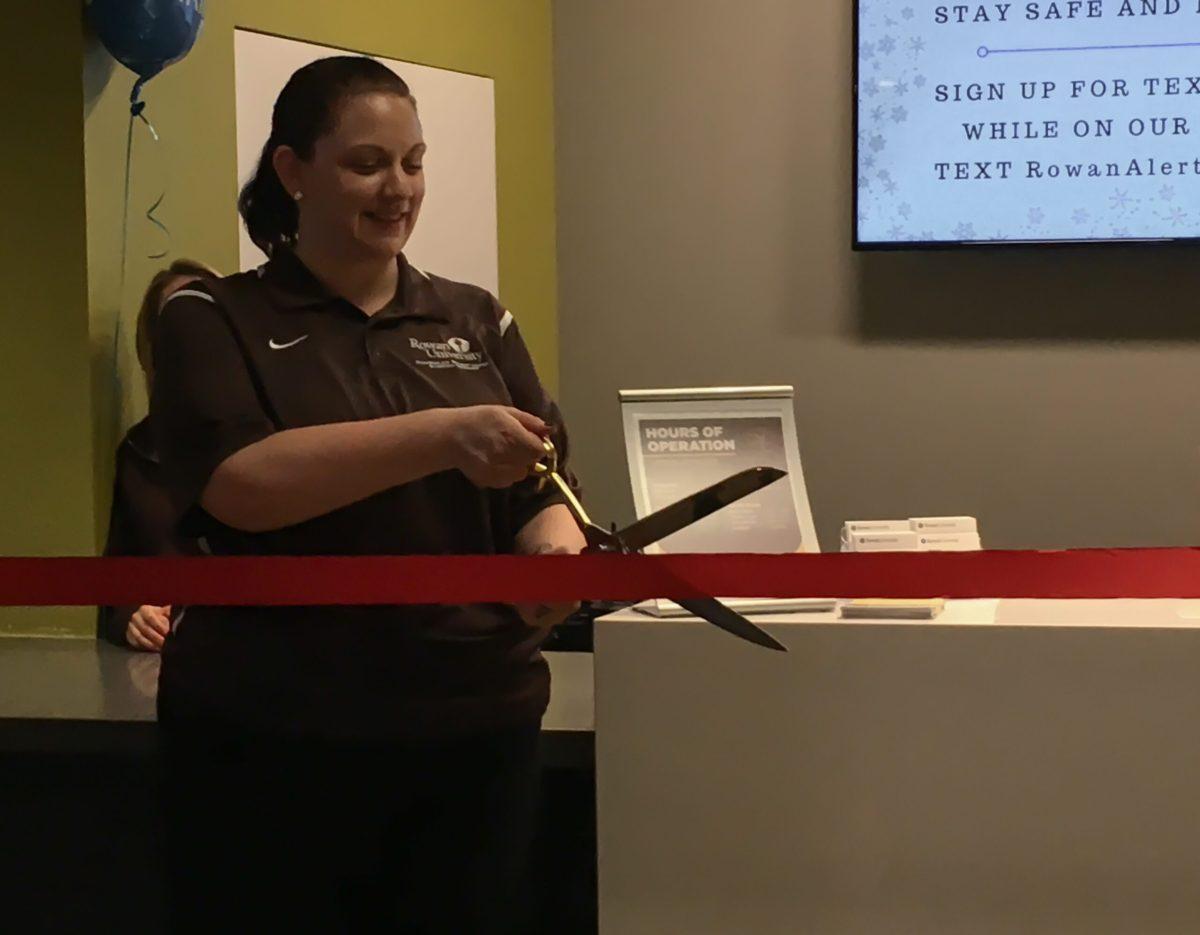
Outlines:
{"type": "MultiPolygon", "coordinates": [[[[269,256],[175,298],[151,419],[215,553],[576,552],[529,479],[557,407],[482,289],[402,250],[425,196],[408,86],[305,66],[239,208],[269,256]]],[[[188,607],[163,652],[176,928],[505,931],[569,607],[188,607]]]]}

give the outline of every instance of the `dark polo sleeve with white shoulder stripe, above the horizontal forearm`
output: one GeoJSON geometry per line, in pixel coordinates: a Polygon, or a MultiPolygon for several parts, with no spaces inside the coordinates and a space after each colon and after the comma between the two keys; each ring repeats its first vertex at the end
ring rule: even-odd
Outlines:
{"type": "Polygon", "coordinates": [[[200,495],[227,457],[275,431],[228,312],[203,286],[162,310],[155,340],[150,426],[180,532],[204,535],[212,521],[200,495]]]}

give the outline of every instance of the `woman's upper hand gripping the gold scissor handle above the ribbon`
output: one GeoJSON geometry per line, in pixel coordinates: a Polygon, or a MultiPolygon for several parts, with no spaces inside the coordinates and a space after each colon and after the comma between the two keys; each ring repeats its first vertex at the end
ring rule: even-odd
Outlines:
{"type": "Polygon", "coordinates": [[[550,426],[511,406],[446,409],[454,467],[480,487],[511,487],[546,454],[550,426]]]}

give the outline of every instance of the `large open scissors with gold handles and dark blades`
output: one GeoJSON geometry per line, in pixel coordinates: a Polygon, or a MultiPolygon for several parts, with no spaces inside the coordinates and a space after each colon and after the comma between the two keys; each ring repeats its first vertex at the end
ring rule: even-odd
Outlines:
{"type": "MultiPolygon", "coordinates": [[[[566,509],[571,511],[575,522],[583,531],[587,540],[588,552],[620,552],[625,555],[641,552],[650,543],[656,543],[672,533],[702,520],[722,507],[727,507],[734,501],[742,499],[754,493],[768,484],[773,484],[786,475],[786,472],[776,468],[756,467],[742,471],[725,480],[718,481],[704,490],[697,491],[680,501],[676,501],[661,510],[655,510],[649,516],[643,516],[632,526],[626,526],[622,531],[605,529],[592,522],[583,504],[570,485],[563,480],[558,473],[558,449],[548,438],[542,440],[546,454],[534,464],[533,474],[539,478],[539,489],[546,484],[553,484],[558,492],[566,501],[566,509]]],[[[636,601],[632,601],[636,603],[636,601]]],[[[764,646],[769,649],[787,652],[782,643],[768,634],[766,630],[755,627],[750,621],[734,610],[721,604],[716,598],[689,598],[677,599],[676,603],[689,613],[708,621],[714,627],[720,627],[726,633],[739,636],[743,640],[764,646]]]]}

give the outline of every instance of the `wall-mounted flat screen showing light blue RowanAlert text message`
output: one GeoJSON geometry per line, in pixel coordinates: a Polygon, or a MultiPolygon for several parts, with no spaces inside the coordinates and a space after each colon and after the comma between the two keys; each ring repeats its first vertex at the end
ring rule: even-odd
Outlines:
{"type": "Polygon", "coordinates": [[[854,246],[1200,238],[1200,0],[858,0],[854,246]]]}

